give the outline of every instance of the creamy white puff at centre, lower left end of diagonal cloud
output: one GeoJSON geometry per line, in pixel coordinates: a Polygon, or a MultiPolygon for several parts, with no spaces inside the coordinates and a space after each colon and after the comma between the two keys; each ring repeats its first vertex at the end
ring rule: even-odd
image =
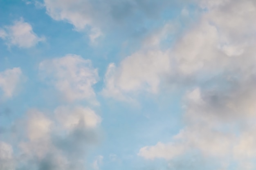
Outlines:
{"type": "Polygon", "coordinates": [[[169,69],[168,53],[138,51],[126,57],[119,67],[115,64],[108,66],[102,93],[121,100],[130,100],[129,95],[138,91],[157,93],[160,77],[169,69]]]}

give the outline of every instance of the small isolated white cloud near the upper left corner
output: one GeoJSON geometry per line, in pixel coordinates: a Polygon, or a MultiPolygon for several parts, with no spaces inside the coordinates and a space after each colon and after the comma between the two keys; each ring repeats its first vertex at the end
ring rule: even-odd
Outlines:
{"type": "Polygon", "coordinates": [[[38,37],[32,26],[28,22],[24,22],[23,19],[0,29],[0,38],[6,41],[8,46],[18,46],[20,48],[30,48],[38,42],[45,41],[45,37],[38,37]]]}

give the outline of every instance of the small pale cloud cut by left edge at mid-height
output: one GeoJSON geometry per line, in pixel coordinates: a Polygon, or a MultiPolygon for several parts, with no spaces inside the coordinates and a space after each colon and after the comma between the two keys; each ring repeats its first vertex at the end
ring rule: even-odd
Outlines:
{"type": "Polygon", "coordinates": [[[0,88],[2,89],[4,97],[13,97],[21,82],[22,71],[18,67],[0,72],[0,88]]]}

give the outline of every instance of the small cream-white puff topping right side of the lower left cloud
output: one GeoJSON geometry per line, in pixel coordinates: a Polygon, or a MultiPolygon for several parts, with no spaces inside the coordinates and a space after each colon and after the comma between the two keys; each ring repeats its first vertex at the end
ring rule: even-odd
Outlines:
{"type": "Polygon", "coordinates": [[[67,106],[59,106],[54,113],[67,129],[73,129],[79,124],[84,124],[88,128],[94,128],[101,123],[101,117],[94,113],[90,108],[76,106],[70,108],[67,106]]]}

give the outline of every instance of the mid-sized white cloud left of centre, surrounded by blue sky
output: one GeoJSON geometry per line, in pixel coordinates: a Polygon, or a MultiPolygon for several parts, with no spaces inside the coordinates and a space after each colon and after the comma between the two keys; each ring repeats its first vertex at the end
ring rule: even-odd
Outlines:
{"type": "Polygon", "coordinates": [[[98,81],[98,71],[90,60],[73,54],[44,60],[39,64],[39,75],[54,85],[67,101],[87,99],[97,104],[92,86],[98,81]]]}

